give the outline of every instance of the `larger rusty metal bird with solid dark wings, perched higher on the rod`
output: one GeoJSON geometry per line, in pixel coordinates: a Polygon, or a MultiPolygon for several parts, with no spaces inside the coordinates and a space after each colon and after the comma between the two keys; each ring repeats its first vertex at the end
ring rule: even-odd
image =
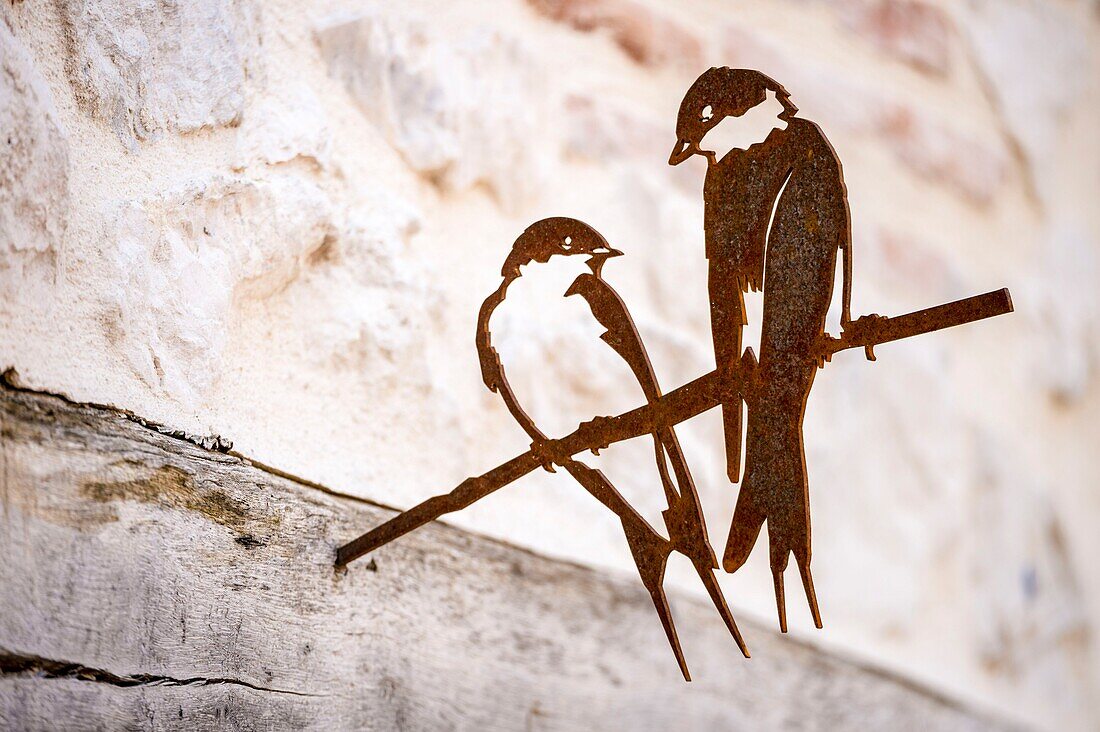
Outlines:
{"type": "Polygon", "coordinates": [[[851,234],[840,161],[813,122],[774,79],[760,72],[712,68],[688,90],[676,121],[671,165],[707,159],[703,188],[708,294],[715,365],[740,371],[748,406],[745,476],[740,477],[741,400],[723,404],[726,468],[741,480],[723,556],[741,567],[768,522],[770,564],[780,627],[787,631],[783,570],[791,554],[802,575],[814,624],[821,612],[810,573],[810,494],[802,423],[821,359],[833,298],[837,252],[844,253],[842,325],[851,299],[851,234]],[[706,150],[704,136],[743,116],[771,92],[780,125],[745,150],[706,150]],[[721,155],[721,156],[719,156],[721,155]],[[760,360],[741,353],[745,293],[763,289],[760,360]]]}

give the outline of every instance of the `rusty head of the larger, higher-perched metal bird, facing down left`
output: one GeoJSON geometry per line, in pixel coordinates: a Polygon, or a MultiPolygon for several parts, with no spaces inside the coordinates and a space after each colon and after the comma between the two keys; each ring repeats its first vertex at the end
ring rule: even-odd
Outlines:
{"type": "Polygon", "coordinates": [[[727,117],[740,117],[768,98],[768,91],[783,105],[780,119],[790,119],[798,107],[787,89],[770,76],[749,68],[714,67],[703,73],[688,89],[676,118],[676,144],[669,165],[679,165],[695,154],[705,155],[713,165],[715,153],[700,149],[703,136],[727,117]]]}

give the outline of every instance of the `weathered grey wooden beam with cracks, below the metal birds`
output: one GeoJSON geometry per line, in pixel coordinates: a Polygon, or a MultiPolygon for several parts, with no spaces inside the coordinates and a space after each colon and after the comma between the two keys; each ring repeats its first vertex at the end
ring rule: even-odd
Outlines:
{"type": "Polygon", "coordinates": [[[674,598],[684,684],[631,578],[393,512],[130,416],[0,391],[0,728],[1003,726],[674,598]]]}

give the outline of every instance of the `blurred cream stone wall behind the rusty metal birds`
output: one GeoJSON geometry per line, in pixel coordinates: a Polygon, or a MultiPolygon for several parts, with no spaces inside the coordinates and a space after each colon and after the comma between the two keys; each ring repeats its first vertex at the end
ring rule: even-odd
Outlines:
{"type": "MultiPolygon", "coordinates": [[[[712,368],[704,163],[667,165],[675,114],[712,65],[772,75],[844,163],[856,314],[1001,286],[1016,306],[818,374],[825,630],[791,590],[792,633],[1040,728],[1100,724],[1100,3],[16,0],[0,15],[0,365],[402,507],[527,447],[473,334],[535,219],[581,218],[627,253],[605,274],[666,386],[712,368]]],[[[514,380],[596,414],[620,385],[561,347],[571,328],[538,335],[514,380]]],[[[736,500],[719,427],[681,429],[718,547],[736,500]]],[[[609,450],[608,470],[654,517],[636,455],[609,450]]],[[[452,521],[632,571],[617,523],[563,473],[452,521]]],[[[774,622],[763,546],[724,586],[774,622]]]]}

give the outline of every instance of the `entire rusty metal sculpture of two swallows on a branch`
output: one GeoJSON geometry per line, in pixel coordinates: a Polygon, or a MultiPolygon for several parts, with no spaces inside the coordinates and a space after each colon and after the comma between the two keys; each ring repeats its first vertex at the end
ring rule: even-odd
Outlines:
{"type": "Polygon", "coordinates": [[[1008,289],[999,289],[899,317],[851,318],[851,225],[840,161],[821,129],[796,116],[788,91],[749,69],[712,68],[692,85],[680,107],[678,141],[669,157],[676,165],[692,155],[707,160],[703,185],[714,371],[662,394],[652,365],[617,293],[602,277],[612,249],[587,225],[569,218],[538,221],[516,240],[501,286],[482,305],[477,354],[486,386],[498,393],[531,439],[531,449],[488,472],[468,478],[449,493],[428,499],[346,544],[337,564],[346,565],[380,546],[459,511],[528,472],[560,466],[622,522],[642,583],[649,591],[684,678],[688,666],[662,589],[669,555],[686,556],[743,653],[743,641],[714,576],[717,561],[707,539],[698,495],[674,426],[714,407],[723,413],[726,472],[740,483],[722,567],[734,572],[748,559],[763,524],[780,629],[787,631],[783,572],[793,555],[817,627],[821,612],[810,571],[810,493],[803,443],[806,401],[818,368],[834,353],[875,347],[1012,312],[1008,289]],[[719,151],[704,148],[707,132],[774,95],[782,106],[778,124],[760,143],[719,151]],[[551,256],[583,255],[588,271],[565,295],[583,297],[606,328],[603,339],[629,365],[646,404],[617,416],[597,416],[563,437],[542,433],[509,387],[492,346],[490,318],[520,267],[551,256]],[[825,331],[836,266],[843,266],[842,331],[825,331]],[[745,294],[763,291],[759,359],[744,349],[745,294]],[[747,414],[747,419],[746,419],[747,414]],[[741,437],[745,433],[745,455],[741,437]],[[650,436],[662,489],[668,538],[657,532],[598,470],[576,458],[614,443],[650,436]],[[743,460],[744,457],[744,460],[743,460]],[[744,474],[743,474],[744,462],[744,474]],[[671,472],[670,472],[671,466],[671,472]]]}

